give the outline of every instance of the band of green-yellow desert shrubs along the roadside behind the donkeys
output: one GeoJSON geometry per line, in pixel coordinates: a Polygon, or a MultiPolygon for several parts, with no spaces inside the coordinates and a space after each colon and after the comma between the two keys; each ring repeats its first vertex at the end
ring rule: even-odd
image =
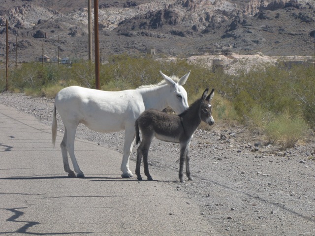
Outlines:
{"type": "MultiPolygon", "coordinates": [[[[3,67],[2,67],[3,68],[3,67]]],[[[9,90],[31,96],[53,98],[71,85],[95,88],[94,63],[81,61],[71,67],[38,62],[23,63],[9,72],[9,90]]],[[[166,75],[183,76],[191,70],[184,86],[189,102],[206,87],[215,88],[213,114],[217,124],[242,124],[265,135],[266,144],[291,148],[315,130],[315,68],[303,64],[291,68],[260,65],[249,72],[228,75],[203,65],[177,61],[111,56],[100,68],[102,90],[135,89],[156,84],[166,75]]],[[[5,89],[5,70],[0,69],[0,89],[5,89]]]]}

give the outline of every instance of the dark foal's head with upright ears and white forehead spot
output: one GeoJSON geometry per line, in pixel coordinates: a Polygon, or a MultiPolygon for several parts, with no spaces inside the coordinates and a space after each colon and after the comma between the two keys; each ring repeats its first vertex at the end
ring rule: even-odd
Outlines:
{"type": "Polygon", "coordinates": [[[212,106],[210,104],[210,101],[213,98],[215,89],[212,89],[210,94],[207,96],[208,91],[209,89],[206,89],[201,97],[200,118],[207,124],[213,125],[215,123],[215,120],[212,117],[212,106]]]}

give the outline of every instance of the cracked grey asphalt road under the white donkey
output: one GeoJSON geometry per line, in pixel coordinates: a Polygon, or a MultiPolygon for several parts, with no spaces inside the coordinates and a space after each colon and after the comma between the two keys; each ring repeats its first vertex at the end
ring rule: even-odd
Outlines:
{"type": "Polygon", "coordinates": [[[67,177],[61,140],[53,148],[50,126],[0,104],[1,235],[218,235],[167,176],[122,179],[114,150],[77,140],[86,177],[67,177]]]}

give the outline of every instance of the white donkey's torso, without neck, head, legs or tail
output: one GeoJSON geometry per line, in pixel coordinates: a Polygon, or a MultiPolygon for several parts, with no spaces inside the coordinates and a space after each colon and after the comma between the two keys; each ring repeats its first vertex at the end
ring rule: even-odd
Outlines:
{"type": "Polygon", "coordinates": [[[56,96],[59,115],[69,125],[83,123],[98,132],[125,129],[128,119],[144,110],[142,95],[137,90],[102,91],[71,86],[56,96]]]}

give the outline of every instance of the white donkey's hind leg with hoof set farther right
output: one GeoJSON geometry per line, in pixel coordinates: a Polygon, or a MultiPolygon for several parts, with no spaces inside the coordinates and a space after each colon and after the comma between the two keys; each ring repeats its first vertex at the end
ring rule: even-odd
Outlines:
{"type": "Polygon", "coordinates": [[[77,177],[84,177],[83,172],[80,170],[77,159],[74,155],[74,139],[75,139],[75,132],[77,129],[77,125],[67,125],[67,136],[66,136],[66,148],[69,152],[74,171],[77,173],[77,177]]]}

